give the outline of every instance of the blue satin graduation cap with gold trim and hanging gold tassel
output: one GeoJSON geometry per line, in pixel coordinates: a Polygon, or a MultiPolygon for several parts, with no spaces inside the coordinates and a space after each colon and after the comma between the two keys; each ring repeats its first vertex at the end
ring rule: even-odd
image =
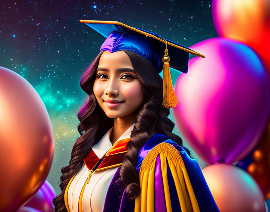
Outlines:
{"type": "Polygon", "coordinates": [[[86,23],[106,38],[100,51],[111,53],[121,50],[133,51],[150,61],[157,73],[160,73],[163,68],[162,104],[165,108],[173,108],[179,104],[172,86],[170,65],[178,71],[187,73],[189,53],[205,58],[204,55],[164,39],[156,33],[130,27],[119,21],[80,20],[80,22],[86,23]]]}

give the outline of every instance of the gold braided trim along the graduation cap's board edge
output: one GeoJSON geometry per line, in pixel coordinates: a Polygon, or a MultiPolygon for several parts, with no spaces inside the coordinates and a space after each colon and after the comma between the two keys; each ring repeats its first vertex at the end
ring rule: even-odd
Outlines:
{"type": "MultiPolygon", "coordinates": [[[[128,26],[128,25],[126,25],[126,24],[124,24],[124,23],[121,23],[121,22],[119,22],[119,21],[106,21],[106,20],[80,20],[80,22],[81,22],[81,23],[116,24],[116,25],[119,25],[119,26],[122,26],[122,27],[126,27],[127,29],[133,30],[133,31],[135,31],[135,32],[137,32],[137,33],[141,33],[141,34],[145,35],[146,37],[148,37],[148,36],[149,36],[149,37],[152,37],[152,38],[154,38],[154,39],[156,39],[156,40],[158,40],[158,41],[160,41],[160,42],[166,44],[166,41],[163,40],[163,39],[161,39],[161,38],[158,38],[158,37],[156,37],[156,36],[154,36],[154,35],[152,35],[152,34],[149,34],[149,33],[143,32],[143,31],[141,31],[141,30],[138,30],[138,29],[136,29],[136,28],[134,28],[134,27],[130,27],[130,26],[128,26]]],[[[200,54],[200,53],[198,53],[198,52],[196,52],[196,51],[186,49],[186,48],[184,48],[184,47],[182,47],[182,46],[178,46],[178,45],[175,45],[175,44],[170,43],[170,42],[167,42],[167,43],[168,43],[168,45],[170,45],[170,46],[173,46],[173,47],[175,47],[175,48],[179,48],[179,49],[181,49],[181,50],[187,51],[188,53],[190,53],[190,54],[192,54],[192,55],[195,55],[195,56],[198,56],[198,57],[201,57],[201,58],[205,58],[204,55],[202,55],[202,54],[200,54]]]]}

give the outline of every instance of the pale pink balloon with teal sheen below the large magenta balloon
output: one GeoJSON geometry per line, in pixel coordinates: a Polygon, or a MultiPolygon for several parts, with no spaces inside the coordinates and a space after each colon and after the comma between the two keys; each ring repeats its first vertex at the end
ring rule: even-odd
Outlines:
{"type": "Polygon", "coordinates": [[[267,211],[260,187],[246,171],[229,164],[213,164],[202,173],[221,212],[267,211]]]}

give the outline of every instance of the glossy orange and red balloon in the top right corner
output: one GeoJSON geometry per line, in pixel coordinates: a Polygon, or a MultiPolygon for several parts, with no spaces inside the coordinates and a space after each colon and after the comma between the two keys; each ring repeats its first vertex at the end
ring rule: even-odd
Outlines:
{"type": "Polygon", "coordinates": [[[269,0],[213,0],[212,18],[218,36],[250,45],[270,70],[269,0]]]}

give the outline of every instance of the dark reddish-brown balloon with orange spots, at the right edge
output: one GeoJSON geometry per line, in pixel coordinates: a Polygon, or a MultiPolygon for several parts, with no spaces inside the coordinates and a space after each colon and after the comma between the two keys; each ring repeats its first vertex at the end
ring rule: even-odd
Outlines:
{"type": "Polygon", "coordinates": [[[265,196],[270,198],[270,117],[262,139],[252,154],[253,162],[247,167],[247,172],[259,184],[265,196]]]}

